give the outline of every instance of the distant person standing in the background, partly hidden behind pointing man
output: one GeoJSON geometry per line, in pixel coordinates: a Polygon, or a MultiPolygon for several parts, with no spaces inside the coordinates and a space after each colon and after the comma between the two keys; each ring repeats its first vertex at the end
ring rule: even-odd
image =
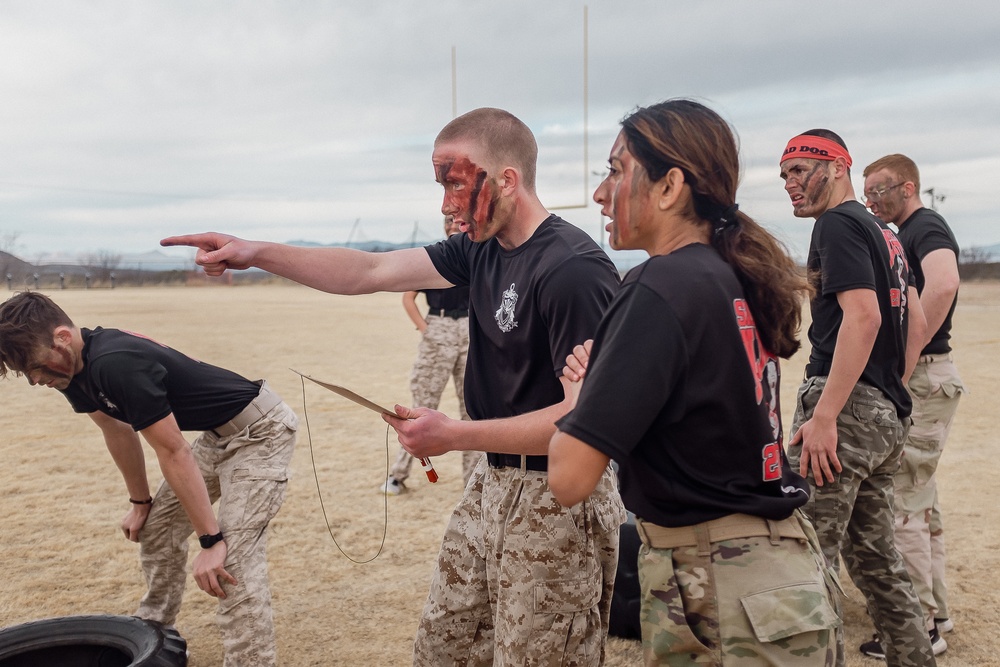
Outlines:
{"type": "MultiPolygon", "coordinates": [[[[445,237],[461,233],[452,216],[444,219],[445,237]]],[[[465,411],[465,363],[469,354],[469,288],[425,289],[403,293],[403,309],[420,332],[417,359],[410,373],[410,392],[413,407],[437,410],[441,394],[451,378],[458,395],[458,411],[468,419],[465,411]],[[417,307],[417,295],[423,292],[427,299],[427,315],[417,307]]],[[[462,482],[468,484],[472,471],[482,458],[481,452],[462,452],[462,482]]],[[[406,487],[406,480],[413,467],[413,456],[399,448],[389,478],[381,491],[398,496],[406,487]]]]}

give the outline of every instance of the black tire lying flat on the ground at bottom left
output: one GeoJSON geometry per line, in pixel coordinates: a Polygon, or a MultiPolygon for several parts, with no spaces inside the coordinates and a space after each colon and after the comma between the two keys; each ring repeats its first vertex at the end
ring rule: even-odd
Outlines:
{"type": "Polygon", "coordinates": [[[135,616],[64,616],[0,630],[0,667],[185,667],[176,630],[135,616]]]}

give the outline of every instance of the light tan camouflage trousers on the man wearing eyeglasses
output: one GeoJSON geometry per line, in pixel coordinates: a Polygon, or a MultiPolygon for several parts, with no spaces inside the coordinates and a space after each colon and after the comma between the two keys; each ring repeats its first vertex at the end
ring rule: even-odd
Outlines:
{"type": "Polygon", "coordinates": [[[920,358],[908,389],[913,397],[912,423],[894,480],[896,546],[929,630],[935,617],[948,618],[944,526],[935,472],[965,385],[951,355],[934,354],[920,358]]]}

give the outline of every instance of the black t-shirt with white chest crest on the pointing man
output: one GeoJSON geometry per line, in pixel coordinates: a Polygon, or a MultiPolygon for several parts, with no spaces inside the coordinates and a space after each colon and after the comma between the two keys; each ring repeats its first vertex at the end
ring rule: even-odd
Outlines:
{"type": "Polygon", "coordinates": [[[566,357],[593,337],[618,287],[607,254],[554,215],[513,250],[466,234],[426,250],[438,273],[470,288],[469,415],[512,417],[561,401],[566,357]]]}

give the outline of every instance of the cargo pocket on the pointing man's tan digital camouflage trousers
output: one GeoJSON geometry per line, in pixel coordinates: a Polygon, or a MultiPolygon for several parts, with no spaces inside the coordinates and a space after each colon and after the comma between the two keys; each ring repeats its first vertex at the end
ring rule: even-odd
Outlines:
{"type": "Polygon", "coordinates": [[[534,597],[529,655],[546,656],[545,662],[559,665],[600,655],[601,587],[593,578],[535,584],[534,597]]]}

